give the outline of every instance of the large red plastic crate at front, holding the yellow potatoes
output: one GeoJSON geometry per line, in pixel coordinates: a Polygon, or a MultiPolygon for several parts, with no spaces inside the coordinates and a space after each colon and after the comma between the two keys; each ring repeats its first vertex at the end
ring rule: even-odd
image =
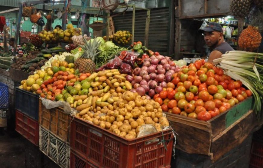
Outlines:
{"type": "MultiPolygon", "coordinates": [[[[171,167],[173,147],[171,129],[127,140],[75,117],[70,124],[70,130],[71,151],[86,160],[84,162],[91,163],[96,167],[171,167]],[[160,143],[162,139],[167,140],[165,142],[167,150],[165,150],[164,144],[160,143]]],[[[86,167],[89,168],[87,165],[86,167]]]]}

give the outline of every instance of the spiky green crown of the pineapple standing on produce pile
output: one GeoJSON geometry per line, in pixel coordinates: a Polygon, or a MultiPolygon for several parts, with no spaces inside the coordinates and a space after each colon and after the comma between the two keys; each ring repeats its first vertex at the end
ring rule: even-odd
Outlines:
{"type": "Polygon", "coordinates": [[[85,52],[80,56],[80,58],[91,59],[95,61],[96,56],[99,54],[97,48],[99,47],[101,41],[97,38],[90,39],[89,41],[86,38],[83,38],[84,45],[79,45],[85,52]]]}

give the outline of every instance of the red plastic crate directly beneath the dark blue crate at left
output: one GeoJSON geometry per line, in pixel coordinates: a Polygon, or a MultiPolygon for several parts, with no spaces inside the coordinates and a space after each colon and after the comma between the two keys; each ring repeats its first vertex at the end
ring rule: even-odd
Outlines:
{"type": "Polygon", "coordinates": [[[34,145],[38,146],[39,141],[39,124],[36,120],[15,110],[15,130],[23,135],[34,145]]]}

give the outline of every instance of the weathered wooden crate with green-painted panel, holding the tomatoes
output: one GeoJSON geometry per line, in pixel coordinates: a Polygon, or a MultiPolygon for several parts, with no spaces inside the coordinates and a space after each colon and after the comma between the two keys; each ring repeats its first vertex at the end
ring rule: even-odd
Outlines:
{"type": "Polygon", "coordinates": [[[166,113],[178,134],[176,148],[186,153],[210,156],[213,161],[241,144],[257,122],[252,97],[208,121],[166,113]]]}

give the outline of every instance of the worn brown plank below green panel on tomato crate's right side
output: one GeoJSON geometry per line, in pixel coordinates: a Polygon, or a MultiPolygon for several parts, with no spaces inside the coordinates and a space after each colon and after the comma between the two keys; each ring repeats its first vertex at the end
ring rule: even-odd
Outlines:
{"type": "Polygon", "coordinates": [[[230,127],[213,138],[211,147],[213,162],[240,145],[251,133],[257,123],[255,120],[255,113],[253,113],[253,110],[250,110],[230,127]]]}

